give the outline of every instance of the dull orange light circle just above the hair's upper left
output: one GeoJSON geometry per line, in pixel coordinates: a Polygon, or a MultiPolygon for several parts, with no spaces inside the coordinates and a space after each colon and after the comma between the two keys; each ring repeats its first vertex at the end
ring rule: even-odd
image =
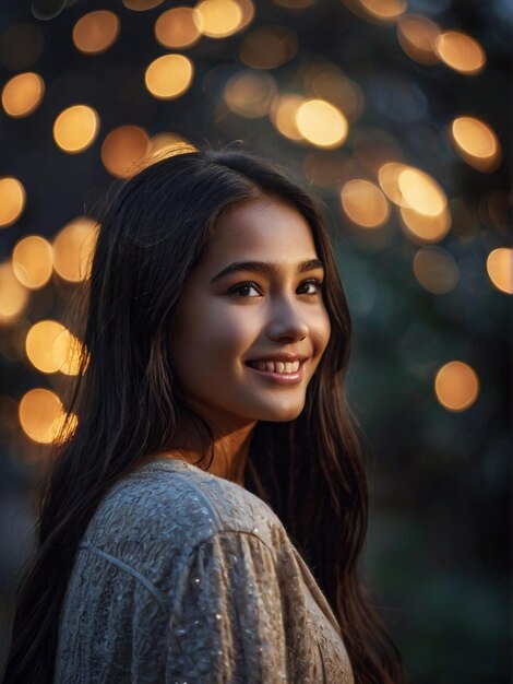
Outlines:
{"type": "Polygon", "coordinates": [[[102,145],[105,168],[118,178],[130,178],[150,152],[150,138],[139,126],[115,128],[102,145]]]}

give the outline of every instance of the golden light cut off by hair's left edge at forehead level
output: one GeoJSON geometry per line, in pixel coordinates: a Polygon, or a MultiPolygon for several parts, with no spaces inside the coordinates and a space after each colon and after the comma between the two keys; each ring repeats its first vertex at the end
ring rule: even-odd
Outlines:
{"type": "Polygon", "coordinates": [[[56,273],[72,283],[88,279],[97,234],[97,223],[87,216],[68,223],[53,240],[56,273]]]}

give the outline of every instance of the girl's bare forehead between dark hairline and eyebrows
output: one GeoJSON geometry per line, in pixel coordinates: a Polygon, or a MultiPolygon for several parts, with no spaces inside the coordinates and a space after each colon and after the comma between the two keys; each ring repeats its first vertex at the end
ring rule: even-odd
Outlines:
{"type": "Polygon", "coordinates": [[[305,258],[317,255],[311,228],[293,205],[264,197],[228,209],[217,222],[207,255],[208,261],[227,257],[274,256],[305,258]]]}

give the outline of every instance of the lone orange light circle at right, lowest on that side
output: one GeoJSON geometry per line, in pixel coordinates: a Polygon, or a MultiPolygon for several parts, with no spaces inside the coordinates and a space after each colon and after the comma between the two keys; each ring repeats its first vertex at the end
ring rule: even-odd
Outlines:
{"type": "Polygon", "coordinates": [[[477,399],[479,380],[470,366],[461,361],[451,361],[437,373],[434,393],[448,411],[465,411],[477,399]]]}

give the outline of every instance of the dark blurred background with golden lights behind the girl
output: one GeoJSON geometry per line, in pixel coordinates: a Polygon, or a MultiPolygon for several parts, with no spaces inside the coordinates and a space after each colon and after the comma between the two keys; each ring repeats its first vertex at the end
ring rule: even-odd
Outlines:
{"type": "Polygon", "coordinates": [[[80,278],[67,271],[80,266],[73,240],[91,228],[80,217],[96,215],[112,174],[166,142],[241,141],[326,209],[355,325],[347,392],[371,488],[362,569],[411,681],[505,682],[511,2],[182,4],[180,20],[158,0],[2,5],[0,642],[48,451],[26,393],[58,397],[65,377],[33,326],[62,320],[80,278]],[[155,61],[169,54],[187,59],[155,61]],[[386,185],[391,162],[403,166],[386,185]],[[14,258],[29,235],[51,245],[47,272],[43,241],[14,258]],[[465,366],[444,379],[453,361],[465,366]]]}

